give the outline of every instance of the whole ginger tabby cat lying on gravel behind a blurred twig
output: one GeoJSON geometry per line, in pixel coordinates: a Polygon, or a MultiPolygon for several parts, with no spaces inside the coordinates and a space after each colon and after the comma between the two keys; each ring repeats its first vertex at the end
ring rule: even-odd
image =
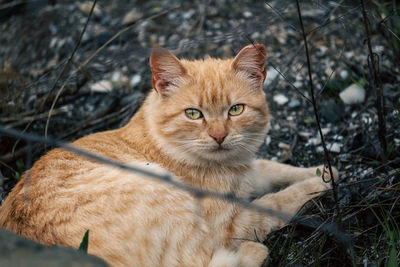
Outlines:
{"type": "MultiPolygon", "coordinates": [[[[179,60],[157,48],[152,92],[123,128],[73,143],[201,189],[243,198],[294,216],[329,184],[314,168],[255,158],[267,133],[263,45],[234,59],[179,60]]],[[[323,168],[323,167],[320,167],[323,168]]],[[[260,266],[256,241],[287,219],[215,198],[196,198],[144,175],[54,149],[26,174],[0,209],[0,226],[45,245],[77,248],[111,266],[260,266]]],[[[334,178],[337,171],[334,170],[334,178]]]]}

